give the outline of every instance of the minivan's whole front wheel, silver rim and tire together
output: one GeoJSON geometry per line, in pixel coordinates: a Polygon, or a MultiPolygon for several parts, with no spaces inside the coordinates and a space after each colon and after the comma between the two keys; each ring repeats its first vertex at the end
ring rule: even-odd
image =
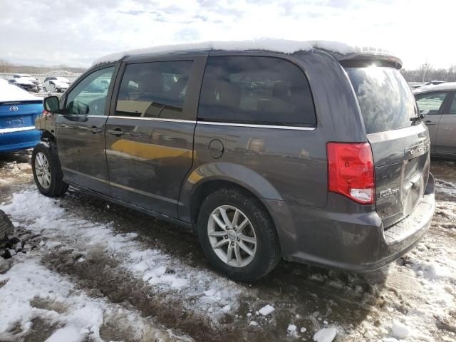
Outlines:
{"type": "Polygon", "coordinates": [[[68,190],[53,142],[38,142],[31,155],[31,168],[38,190],[48,197],[58,197],[68,190]]]}

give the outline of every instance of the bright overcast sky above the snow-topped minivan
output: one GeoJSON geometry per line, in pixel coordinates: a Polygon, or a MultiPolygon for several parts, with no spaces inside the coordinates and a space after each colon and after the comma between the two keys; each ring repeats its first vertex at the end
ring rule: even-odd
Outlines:
{"type": "Polygon", "coordinates": [[[452,0],[0,0],[0,59],[90,66],[107,53],[249,38],[385,48],[404,68],[456,64],[452,0]]]}

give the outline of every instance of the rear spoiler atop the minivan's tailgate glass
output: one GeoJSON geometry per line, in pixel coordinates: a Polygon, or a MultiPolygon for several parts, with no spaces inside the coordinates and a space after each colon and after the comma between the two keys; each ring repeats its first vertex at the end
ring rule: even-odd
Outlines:
{"type": "Polygon", "coordinates": [[[402,68],[400,58],[385,53],[351,53],[345,56],[337,56],[337,59],[344,68],[362,68],[366,66],[402,68]]]}

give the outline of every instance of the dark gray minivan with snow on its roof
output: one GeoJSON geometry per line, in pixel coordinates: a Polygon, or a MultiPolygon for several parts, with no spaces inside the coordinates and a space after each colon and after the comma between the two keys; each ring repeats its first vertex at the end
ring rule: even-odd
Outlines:
{"type": "Polygon", "coordinates": [[[281,258],[371,271],[423,237],[430,140],[380,53],[131,53],[98,63],[36,121],[33,176],[195,229],[215,269],[254,281],[281,258]]]}

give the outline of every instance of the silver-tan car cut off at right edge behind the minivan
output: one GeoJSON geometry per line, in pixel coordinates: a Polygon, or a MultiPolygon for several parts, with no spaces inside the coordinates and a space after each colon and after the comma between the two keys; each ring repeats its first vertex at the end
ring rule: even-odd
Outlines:
{"type": "Polygon", "coordinates": [[[431,154],[456,158],[456,82],[414,91],[420,114],[425,114],[431,154]]]}

